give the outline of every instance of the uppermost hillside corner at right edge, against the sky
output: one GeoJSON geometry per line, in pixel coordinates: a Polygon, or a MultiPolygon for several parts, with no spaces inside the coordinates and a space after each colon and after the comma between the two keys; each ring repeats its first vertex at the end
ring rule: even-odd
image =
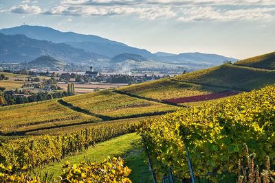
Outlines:
{"type": "Polygon", "coordinates": [[[259,69],[275,69],[275,52],[240,60],[234,64],[239,66],[251,66],[259,69]]]}

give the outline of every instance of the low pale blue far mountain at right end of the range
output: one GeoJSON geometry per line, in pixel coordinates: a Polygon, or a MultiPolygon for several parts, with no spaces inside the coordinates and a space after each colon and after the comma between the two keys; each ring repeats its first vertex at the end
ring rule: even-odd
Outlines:
{"type": "Polygon", "coordinates": [[[194,63],[219,65],[225,61],[235,62],[237,59],[208,53],[180,53],[174,56],[161,56],[160,59],[170,63],[194,63]]]}

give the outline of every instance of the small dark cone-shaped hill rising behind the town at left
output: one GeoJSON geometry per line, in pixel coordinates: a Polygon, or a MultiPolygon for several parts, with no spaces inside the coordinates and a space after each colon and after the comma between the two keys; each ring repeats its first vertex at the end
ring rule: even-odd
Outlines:
{"type": "Polygon", "coordinates": [[[50,67],[50,68],[66,66],[65,62],[56,60],[52,56],[40,56],[39,58],[36,58],[35,60],[28,62],[28,64],[32,66],[41,66],[41,67],[50,67]]]}

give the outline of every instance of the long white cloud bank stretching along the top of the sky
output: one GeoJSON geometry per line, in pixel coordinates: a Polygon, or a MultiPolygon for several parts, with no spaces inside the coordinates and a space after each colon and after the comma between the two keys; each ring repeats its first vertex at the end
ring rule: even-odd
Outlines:
{"type": "MultiPolygon", "coordinates": [[[[34,0],[24,0],[30,2],[34,0]]],[[[272,21],[275,0],[61,0],[42,11],[36,5],[17,5],[10,9],[19,14],[61,16],[137,16],[177,21],[272,21]]]]}

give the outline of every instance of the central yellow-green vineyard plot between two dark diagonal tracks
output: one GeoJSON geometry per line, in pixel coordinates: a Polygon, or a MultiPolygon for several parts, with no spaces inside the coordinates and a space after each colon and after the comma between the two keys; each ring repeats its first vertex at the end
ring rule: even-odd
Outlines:
{"type": "Polygon", "coordinates": [[[78,95],[76,97],[65,97],[63,101],[93,114],[111,118],[138,117],[144,114],[150,115],[157,112],[177,110],[175,106],[137,99],[127,95],[113,93],[109,90],[78,95]],[[89,100],[87,100],[87,98],[89,98],[89,100]]]}

